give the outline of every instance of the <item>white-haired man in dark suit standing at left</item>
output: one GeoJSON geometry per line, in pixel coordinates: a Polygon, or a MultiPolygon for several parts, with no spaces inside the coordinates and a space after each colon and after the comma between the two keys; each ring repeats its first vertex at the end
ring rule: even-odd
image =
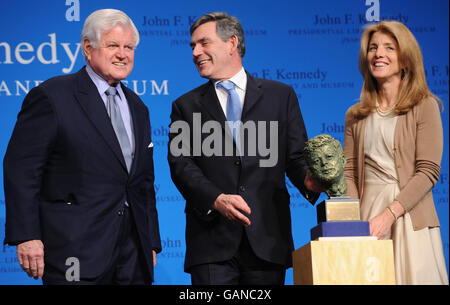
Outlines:
{"type": "Polygon", "coordinates": [[[87,66],[23,102],[4,158],[5,243],[44,284],[153,280],[161,241],[149,113],[120,83],[138,43],[125,13],[95,11],[82,32],[87,66]]]}

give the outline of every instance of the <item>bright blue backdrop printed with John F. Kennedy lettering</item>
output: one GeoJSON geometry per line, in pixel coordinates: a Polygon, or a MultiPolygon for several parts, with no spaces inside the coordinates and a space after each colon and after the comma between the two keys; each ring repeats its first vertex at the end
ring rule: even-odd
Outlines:
{"type": "MultiPolygon", "coordinates": [[[[166,156],[172,101],[205,82],[192,63],[192,22],[210,11],[237,16],[246,36],[244,67],[254,76],[281,81],[295,89],[310,137],[328,133],[341,142],[345,111],[358,99],[362,85],[357,60],[363,26],[371,18],[405,23],[422,47],[428,84],[445,107],[442,120],[446,148],[433,193],[448,270],[448,0],[3,0],[1,4],[2,159],[27,92],[50,77],[76,72],[84,65],[80,33],[86,17],[97,9],[117,8],[134,20],[141,42],[127,84],[150,109],[163,246],[155,279],[156,284],[168,285],[190,283],[183,272],[184,200],[170,179],[166,156]]],[[[309,230],[317,224],[315,207],[287,183],[294,242],[299,248],[309,242],[309,230]]],[[[1,240],[4,198],[0,187],[1,240]]],[[[0,246],[0,284],[40,284],[22,272],[15,251],[15,247],[0,246]]],[[[289,269],[286,283],[292,282],[289,269]]]]}

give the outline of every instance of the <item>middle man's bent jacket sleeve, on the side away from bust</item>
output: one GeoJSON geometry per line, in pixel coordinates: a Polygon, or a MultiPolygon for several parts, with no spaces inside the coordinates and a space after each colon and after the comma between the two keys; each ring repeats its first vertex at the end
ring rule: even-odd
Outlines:
{"type": "Polygon", "coordinates": [[[171,131],[169,133],[169,149],[168,161],[170,166],[170,173],[176,187],[186,199],[186,202],[195,204],[192,208],[199,217],[205,220],[211,220],[215,213],[210,213],[213,208],[216,198],[223,193],[214,183],[212,183],[203,174],[201,168],[195,163],[192,157],[192,145],[187,138],[181,141],[184,144],[183,153],[178,155],[172,151],[172,145],[178,143],[184,135],[190,134],[190,131],[183,131],[181,128],[175,128],[180,123],[180,127],[186,126],[187,121],[177,106],[176,102],[172,104],[171,117],[171,131]],[[190,147],[186,145],[189,144],[190,147]]]}

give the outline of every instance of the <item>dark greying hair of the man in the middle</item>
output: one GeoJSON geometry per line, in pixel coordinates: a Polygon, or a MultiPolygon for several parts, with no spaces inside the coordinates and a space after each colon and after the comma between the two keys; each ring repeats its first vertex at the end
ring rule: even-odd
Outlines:
{"type": "Polygon", "coordinates": [[[245,39],[242,25],[236,17],[229,16],[225,12],[212,12],[198,18],[191,26],[191,36],[200,25],[212,21],[216,22],[217,35],[219,35],[223,41],[227,41],[233,35],[237,36],[239,55],[241,58],[244,57],[245,39]]]}

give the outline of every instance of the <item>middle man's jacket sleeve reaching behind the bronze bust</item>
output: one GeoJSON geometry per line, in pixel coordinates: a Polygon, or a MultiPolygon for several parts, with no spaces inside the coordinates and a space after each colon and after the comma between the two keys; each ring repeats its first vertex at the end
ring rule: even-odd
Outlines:
{"type": "Polygon", "coordinates": [[[303,156],[303,147],[308,140],[305,124],[298,103],[297,95],[291,88],[288,98],[288,129],[287,129],[287,169],[286,173],[291,182],[298,188],[300,193],[312,204],[319,198],[320,194],[306,189],[304,181],[307,165],[303,156]]]}

